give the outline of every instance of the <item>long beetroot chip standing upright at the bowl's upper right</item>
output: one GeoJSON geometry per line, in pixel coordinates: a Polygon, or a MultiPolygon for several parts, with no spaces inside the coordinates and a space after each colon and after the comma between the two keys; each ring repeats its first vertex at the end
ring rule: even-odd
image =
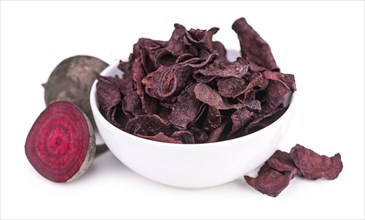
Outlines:
{"type": "Polygon", "coordinates": [[[247,23],[245,18],[236,20],[232,29],[238,35],[243,57],[270,70],[279,71],[269,44],[247,23]]]}

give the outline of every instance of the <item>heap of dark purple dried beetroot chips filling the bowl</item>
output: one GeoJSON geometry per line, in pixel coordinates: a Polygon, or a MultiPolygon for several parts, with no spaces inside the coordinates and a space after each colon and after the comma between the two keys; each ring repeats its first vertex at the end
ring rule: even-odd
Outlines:
{"type": "Polygon", "coordinates": [[[213,41],[218,28],[175,24],[168,41],[140,38],[122,78],[99,76],[100,111],[114,126],[169,143],[206,143],[244,136],[278,119],[296,90],[279,72],[270,46],[240,18],[232,25],[242,57],[230,62],[213,41]]]}

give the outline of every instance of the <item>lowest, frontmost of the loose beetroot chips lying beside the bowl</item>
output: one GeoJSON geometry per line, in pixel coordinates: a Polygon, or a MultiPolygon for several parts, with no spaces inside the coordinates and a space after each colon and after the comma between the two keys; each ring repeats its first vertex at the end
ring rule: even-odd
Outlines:
{"type": "Polygon", "coordinates": [[[268,165],[263,165],[256,178],[244,176],[246,182],[263,194],[276,197],[288,185],[291,180],[290,175],[284,175],[268,165]]]}

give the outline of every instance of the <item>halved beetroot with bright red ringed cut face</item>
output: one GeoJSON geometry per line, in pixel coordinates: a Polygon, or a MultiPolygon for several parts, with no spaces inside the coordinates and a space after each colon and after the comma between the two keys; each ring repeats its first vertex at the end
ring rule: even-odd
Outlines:
{"type": "Polygon", "coordinates": [[[87,116],[73,103],[51,103],[34,122],[25,154],[39,174],[54,182],[81,176],[95,155],[95,136],[87,116]]]}

